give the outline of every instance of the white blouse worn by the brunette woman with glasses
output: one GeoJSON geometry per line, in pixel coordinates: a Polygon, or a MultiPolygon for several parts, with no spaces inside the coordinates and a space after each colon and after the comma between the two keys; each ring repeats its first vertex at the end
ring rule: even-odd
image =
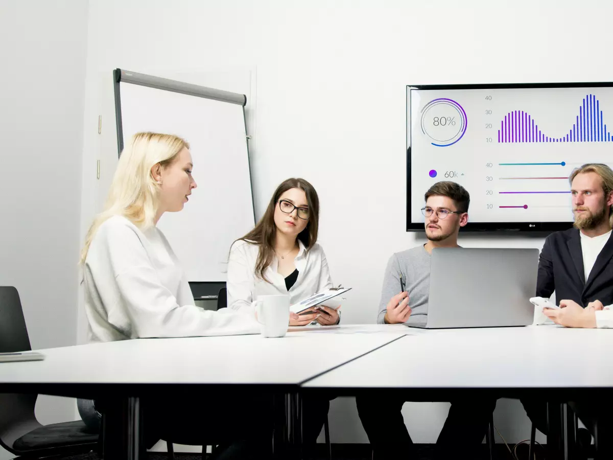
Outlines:
{"type": "Polygon", "coordinates": [[[230,248],[227,268],[228,308],[253,315],[253,302],[259,296],[289,294],[290,305],[293,305],[319,291],[332,288],[332,278],[322,247],[315,243],[307,252],[300,240],[298,243],[300,250],[294,259],[298,279],[287,291],[285,278],[276,271],[279,265],[276,256],[264,272],[270,281],[268,283],[255,274],[259,245],[243,240],[235,242],[230,248]]]}

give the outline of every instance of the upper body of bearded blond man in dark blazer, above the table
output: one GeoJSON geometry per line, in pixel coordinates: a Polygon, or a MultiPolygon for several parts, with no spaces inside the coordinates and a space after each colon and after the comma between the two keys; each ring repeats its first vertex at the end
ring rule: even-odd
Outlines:
{"type": "Polygon", "coordinates": [[[574,228],[545,240],[539,259],[536,295],[555,291],[560,310],[544,313],[574,328],[613,326],[613,171],[584,164],[571,177],[574,228]],[[587,308],[585,308],[587,307],[587,308]]]}

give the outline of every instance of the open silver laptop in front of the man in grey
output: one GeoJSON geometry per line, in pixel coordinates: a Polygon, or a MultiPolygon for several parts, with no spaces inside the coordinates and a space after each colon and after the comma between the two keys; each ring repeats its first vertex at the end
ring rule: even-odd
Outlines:
{"type": "MultiPolygon", "coordinates": [[[[492,328],[533,323],[538,249],[436,248],[425,323],[409,327],[492,328]]],[[[410,294],[410,293],[409,293],[410,294]]],[[[411,321],[411,318],[409,318],[411,321]]]]}

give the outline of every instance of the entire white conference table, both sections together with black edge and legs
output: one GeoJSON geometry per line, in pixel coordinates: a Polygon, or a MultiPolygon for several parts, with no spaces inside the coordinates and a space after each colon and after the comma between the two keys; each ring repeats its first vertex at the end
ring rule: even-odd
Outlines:
{"type": "MultiPolygon", "coordinates": [[[[589,388],[593,394],[613,387],[611,349],[613,331],[606,329],[292,328],[279,339],[141,339],[41,350],[44,361],[0,364],[0,391],[119,401],[111,412],[121,416],[124,432],[113,458],[136,460],[143,453],[138,401],[148,394],[240,387],[241,394],[284,394],[286,402],[291,395],[294,404],[300,393],[330,388],[351,395],[419,390],[422,401],[448,401],[454,391],[559,391],[562,397],[589,388]]],[[[284,440],[291,443],[292,436],[284,440]]]]}

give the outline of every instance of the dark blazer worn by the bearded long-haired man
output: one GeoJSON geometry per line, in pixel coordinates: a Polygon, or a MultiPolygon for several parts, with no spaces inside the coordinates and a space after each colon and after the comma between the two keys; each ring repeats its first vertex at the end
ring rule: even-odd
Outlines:
{"type": "Polygon", "coordinates": [[[613,303],[613,235],[600,251],[587,280],[583,267],[579,230],[550,234],[545,240],[538,266],[536,295],[546,299],[555,290],[555,301],[571,299],[585,307],[599,300],[613,303]]]}

